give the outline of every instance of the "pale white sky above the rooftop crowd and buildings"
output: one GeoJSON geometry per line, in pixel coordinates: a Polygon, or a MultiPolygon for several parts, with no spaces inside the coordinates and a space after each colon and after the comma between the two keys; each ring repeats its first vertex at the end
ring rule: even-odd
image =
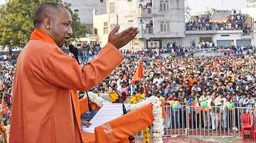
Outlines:
{"type": "MultiPolygon", "coordinates": [[[[203,13],[207,8],[241,9],[246,7],[247,0],[186,0],[191,7],[191,13],[203,13]]],[[[0,0],[4,4],[5,0],[0,0]]]]}

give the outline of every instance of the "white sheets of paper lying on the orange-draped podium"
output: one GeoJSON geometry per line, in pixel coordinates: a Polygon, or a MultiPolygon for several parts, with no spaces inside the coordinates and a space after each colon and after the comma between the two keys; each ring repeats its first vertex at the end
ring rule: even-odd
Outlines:
{"type": "MultiPolygon", "coordinates": [[[[129,110],[129,105],[124,104],[124,106],[129,110]]],[[[90,120],[90,127],[85,127],[82,125],[83,132],[95,132],[95,127],[104,124],[105,122],[109,122],[110,120],[114,120],[123,115],[122,111],[122,103],[109,103],[103,104],[100,110],[97,111],[96,115],[90,120]]]]}

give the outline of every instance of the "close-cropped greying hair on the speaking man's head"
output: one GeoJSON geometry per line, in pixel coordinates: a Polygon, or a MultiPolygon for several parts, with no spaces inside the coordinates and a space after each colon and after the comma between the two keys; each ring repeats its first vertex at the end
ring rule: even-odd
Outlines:
{"type": "Polygon", "coordinates": [[[34,27],[39,27],[46,18],[54,18],[58,14],[58,8],[65,8],[60,4],[46,3],[38,7],[33,18],[34,27]]]}

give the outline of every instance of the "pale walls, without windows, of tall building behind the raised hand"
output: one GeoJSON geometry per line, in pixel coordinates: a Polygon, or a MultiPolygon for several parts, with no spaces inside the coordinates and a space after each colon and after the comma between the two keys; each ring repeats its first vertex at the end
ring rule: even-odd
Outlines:
{"type": "MultiPolygon", "coordinates": [[[[149,3],[144,1],[143,3],[149,3]]],[[[130,26],[139,28],[140,33],[133,42],[129,42],[124,48],[142,49],[146,47],[146,40],[161,40],[162,38],[176,38],[179,45],[185,36],[185,18],[184,18],[184,0],[170,0],[169,11],[159,11],[159,0],[152,1],[151,17],[142,17],[139,15],[139,0],[107,0],[106,11],[109,17],[110,30],[117,23],[122,31],[130,26]],[[110,7],[114,4],[114,12],[111,12],[110,7]],[[141,23],[142,21],[142,23],[141,23]],[[146,27],[146,23],[153,21],[153,34],[144,35],[142,28],[146,27]],[[170,32],[160,32],[160,21],[170,21],[170,32]],[[137,43],[139,42],[139,43],[137,43]]],[[[100,35],[101,36],[101,35],[100,35]]],[[[172,39],[169,39],[172,40],[172,39]]],[[[162,45],[166,45],[168,40],[164,40],[162,45]]]]}

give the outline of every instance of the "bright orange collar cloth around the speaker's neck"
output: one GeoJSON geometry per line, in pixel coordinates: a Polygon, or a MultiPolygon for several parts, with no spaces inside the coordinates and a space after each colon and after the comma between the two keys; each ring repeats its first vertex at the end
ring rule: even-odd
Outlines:
{"type": "Polygon", "coordinates": [[[43,30],[35,28],[33,33],[31,33],[30,40],[41,40],[43,42],[49,42],[51,44],[56,45],[53,38],[50,38],[50,35],[46,34],[43,30]]]}

